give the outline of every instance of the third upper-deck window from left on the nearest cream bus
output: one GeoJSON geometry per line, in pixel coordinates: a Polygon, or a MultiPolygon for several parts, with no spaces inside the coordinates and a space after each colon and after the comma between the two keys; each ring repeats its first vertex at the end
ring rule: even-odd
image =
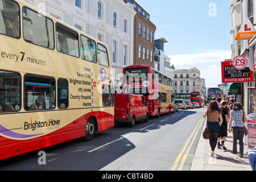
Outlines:
{"type": "Polygon", "coordinates": [[[57,51],[79,57],[79,40],[76,31],[73,31],[60,23],[56,23],[57,51]]]}

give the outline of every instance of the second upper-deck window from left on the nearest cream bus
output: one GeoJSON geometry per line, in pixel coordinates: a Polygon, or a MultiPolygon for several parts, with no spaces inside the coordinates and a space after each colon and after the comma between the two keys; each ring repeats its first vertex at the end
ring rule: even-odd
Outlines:
{"type": "Polygon", "coordinates": [[[54,49],[53,22],[35,11],[23,7],[23,37],[26,42],[54,49]]]}

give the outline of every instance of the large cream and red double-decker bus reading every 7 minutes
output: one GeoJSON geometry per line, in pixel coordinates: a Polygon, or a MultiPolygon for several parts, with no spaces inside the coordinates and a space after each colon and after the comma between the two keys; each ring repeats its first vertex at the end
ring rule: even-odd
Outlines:
{"type": "Polygon", "coordinates": [[[0,0],[0,160],[114,126],[108,47],[0,0]]]}

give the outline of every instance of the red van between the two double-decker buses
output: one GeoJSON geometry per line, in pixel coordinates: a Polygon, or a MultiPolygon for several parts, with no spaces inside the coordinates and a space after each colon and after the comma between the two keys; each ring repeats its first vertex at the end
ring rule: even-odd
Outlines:
{"type": "Polygon", "coordinates": [[[144,96],[115,93],[114,103],[115,123],[128,123],[130,127],[134,127],[136,121],[148,121],[148,102],[144,96]]]}

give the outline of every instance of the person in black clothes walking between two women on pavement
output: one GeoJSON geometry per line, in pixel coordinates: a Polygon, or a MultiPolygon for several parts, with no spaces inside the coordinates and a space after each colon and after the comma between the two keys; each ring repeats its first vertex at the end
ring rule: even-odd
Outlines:
{"type": "Polygon", "coordinates": [[[225,147],[225,140],[226,140],[226,137],[228,137],[228,121],[229,121],[229,118],[228,118],[228,109],[226,107],[226,101],[222,100],[220,102],[220,105],[221,105],[221,112],[222,112],[222,119],[223,119],[223,122],[222,122],[222,125],[220,126],[220,134],[218,134],[218,144],[217,144],[217,148],[223,148],[224,150],[226,150],[226,147],[225,147]],[[222,141],[220,143],[220,140],[222,138],[222,141]]]}

